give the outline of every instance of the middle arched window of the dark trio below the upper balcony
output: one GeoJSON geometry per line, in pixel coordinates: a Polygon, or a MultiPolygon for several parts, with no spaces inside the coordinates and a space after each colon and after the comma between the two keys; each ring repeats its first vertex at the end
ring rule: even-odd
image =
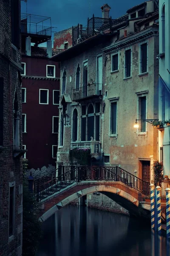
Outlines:
{"type": "Polygon", "coordinates": [[[88,141],[91,137],[94,139],[94,107],[92,104],[88,106],[88,141]]]}

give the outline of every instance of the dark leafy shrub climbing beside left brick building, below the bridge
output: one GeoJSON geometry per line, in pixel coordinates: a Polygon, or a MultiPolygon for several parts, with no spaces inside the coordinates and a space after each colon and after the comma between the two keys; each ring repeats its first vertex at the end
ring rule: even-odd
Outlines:
{"type": "Polygon", "coordinates": [[[42,236],[41,222],[38,220],[38,205],[33,193],[28,189],[25,175],[28,160],[23,160],[23,256],[34,256],[42,236]]]}

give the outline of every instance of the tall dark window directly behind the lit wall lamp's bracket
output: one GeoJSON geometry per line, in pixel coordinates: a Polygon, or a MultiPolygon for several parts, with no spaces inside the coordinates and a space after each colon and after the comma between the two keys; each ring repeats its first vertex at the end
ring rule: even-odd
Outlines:
{"type": "Polygon", "coordinates": [[[139,119],[141,119],[141,132],[146,131],[146,96],[139,97],[139,119]]]}

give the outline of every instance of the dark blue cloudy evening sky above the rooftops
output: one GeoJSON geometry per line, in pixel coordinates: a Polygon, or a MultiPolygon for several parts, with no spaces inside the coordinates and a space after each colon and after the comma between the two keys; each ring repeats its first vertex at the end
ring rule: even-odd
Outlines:
{"type": "MultiPolygon", "coordinates": [[[[53,31],[60,31],[78,23],[86,26],[87,18],[102,17],[100,7],[108,3],[112,19],[124,15],[127,9],[144,0],[28,0],[27,13],[51,17],[53,31]]],[[[26,3],[21,1],[21,12],[26,13],[26,3]]]]}

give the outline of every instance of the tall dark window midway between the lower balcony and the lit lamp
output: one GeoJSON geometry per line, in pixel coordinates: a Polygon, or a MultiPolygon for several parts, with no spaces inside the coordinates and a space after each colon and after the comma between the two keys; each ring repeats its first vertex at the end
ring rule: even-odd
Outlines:
{"type": "Polygon", "coordinates": [[[111,102],[110,134],[117,134],[117,101],[111,102]]]}

